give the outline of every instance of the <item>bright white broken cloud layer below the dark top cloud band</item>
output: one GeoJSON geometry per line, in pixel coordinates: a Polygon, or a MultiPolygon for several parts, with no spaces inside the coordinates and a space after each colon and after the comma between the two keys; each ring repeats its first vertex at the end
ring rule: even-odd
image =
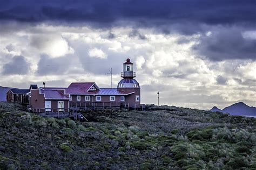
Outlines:
{"type": "MultiPolygon", "coordinates": [[[[70,82],[95,81],[101,88],[107,88],[110,87],[107,73],[112,68],[116,74],[113,75],[113,87],[116,87],[122,79],[123,63],[130,58],[136,80],[142,87],[142,103],[156,103],[159,91],[160,104],[207,109],[242,100],[255,105],[256,61],[244,58],[212,61],[206,58],[206,53],[195,54],[192,48],[206,36],[215,37],[217,32],[226,29],[232,31],[234,26],[207,27],[197,34],[164,34],[154,27],[138,29],[133,25],[117,25],[108,30],[90,25],[49,23],[27,24],[19,29],[19,24],[10,26],[9,32],[0,32],[0,69],[2,71],[4,65],[18,54],[26,56],[26,62],[31,63],[30,71],[22,75],[1,74],[1,86],[26,88],[30,82],[42,86],[46,81],[46,86],[66,87],[70,82]],[[129,37],[133,30],[138,30],[146,39],[129,37]],[[110,32],[114,34],[111,38],[110,32]],[[64,47],[72,47],[73,53],[59,57],[45,54],[45,46],[51,48],[48,39],[65,41],[68,46],[64,47]],[[12,52],[6,49],[10,44],[14,47],[12,52]],[[101,50],[107,59],[90,57],[88,53],[92,49],[101,50]]],[[[1,26],[5,27],[5,24],[1,26]]],[[[251,32],[244,36],[244,27],[234,30],[241,32],[246,40],[250,37],[251,32]]]]}

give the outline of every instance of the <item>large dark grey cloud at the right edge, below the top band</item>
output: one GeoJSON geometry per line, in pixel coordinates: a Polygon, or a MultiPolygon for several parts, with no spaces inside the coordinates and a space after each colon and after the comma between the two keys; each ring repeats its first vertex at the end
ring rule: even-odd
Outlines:
{"type": "Polygon", "coordinates": [[[256,39],[244,38],[241,31],[232,28],[201,37],[200,44],[193,49],[213,61],[256,59],[256,39]]]}

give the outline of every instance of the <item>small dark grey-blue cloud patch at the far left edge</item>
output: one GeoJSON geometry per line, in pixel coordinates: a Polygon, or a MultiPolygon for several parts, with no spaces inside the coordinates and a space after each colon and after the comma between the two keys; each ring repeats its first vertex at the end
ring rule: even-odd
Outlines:
{"type": "Polygon", "coordinates": [[[9,63],[3,66],[4,75],[19,74],[24,75],[29,72],[30,63],[27,62],[24,56],[14,56],[9,63]]]}

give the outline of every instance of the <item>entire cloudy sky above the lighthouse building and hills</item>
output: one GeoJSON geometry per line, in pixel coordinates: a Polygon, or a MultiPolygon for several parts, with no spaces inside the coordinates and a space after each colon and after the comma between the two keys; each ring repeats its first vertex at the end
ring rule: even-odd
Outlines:
{"type": "Polygon", "coordinates": [[[256,107],[256,1],[0,0],[0,86],[117,86],[134,63],[142,103],[256,107]]]}

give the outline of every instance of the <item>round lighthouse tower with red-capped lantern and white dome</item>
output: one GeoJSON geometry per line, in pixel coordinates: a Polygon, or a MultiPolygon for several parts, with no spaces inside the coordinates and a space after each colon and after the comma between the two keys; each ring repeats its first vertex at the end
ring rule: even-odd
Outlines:
{"type": "Polygon", "coordinates": [[[126,59],[123,63],[123,72],[121,73],[122,80],[119,81],[117,89],[121,91],[131,91],[132,95],[126,96],[125,102],[140,104],[140,86],[136,77],[136,73],[133,72],[133,63],[130,59],[126,59]]]}

